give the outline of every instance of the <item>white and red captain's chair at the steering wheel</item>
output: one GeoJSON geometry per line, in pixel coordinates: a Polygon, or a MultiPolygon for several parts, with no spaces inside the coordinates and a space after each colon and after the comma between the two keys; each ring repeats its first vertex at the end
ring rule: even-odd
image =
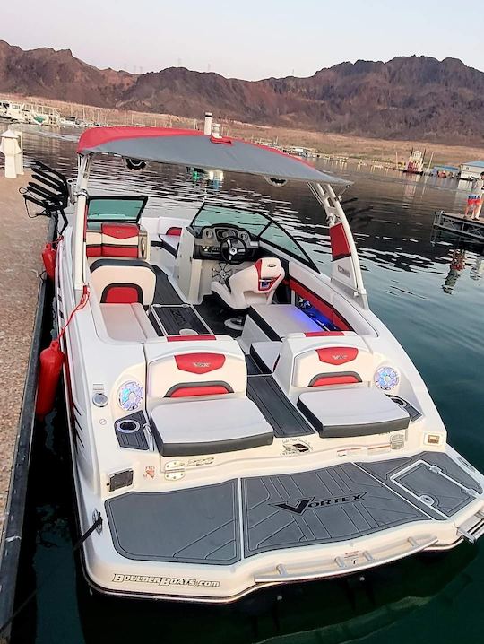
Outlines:
{"type": "Polygon", "coordinates": [[[284,279],[277,257],[263,257],[229,277],[226,284],[212,282],[212,292],[230,309],[244,310],[253,304],[271,304],[275,290],[284,279]]]}

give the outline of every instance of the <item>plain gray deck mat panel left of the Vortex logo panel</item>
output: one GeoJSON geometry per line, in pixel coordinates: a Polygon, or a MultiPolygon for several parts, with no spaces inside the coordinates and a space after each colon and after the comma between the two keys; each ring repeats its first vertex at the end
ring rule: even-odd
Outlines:
{"type": "Polygon", "coordinates": [[[117,552],[140,561],[230,564],[240,559],[236,480],[106,501],[117,552]],[[170,529],[171,528],[171,529],[170,529]]]}

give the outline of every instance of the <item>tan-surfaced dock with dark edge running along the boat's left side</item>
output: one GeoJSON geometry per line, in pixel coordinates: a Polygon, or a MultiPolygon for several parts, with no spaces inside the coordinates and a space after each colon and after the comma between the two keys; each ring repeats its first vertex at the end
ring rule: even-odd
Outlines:
{"type": "Polygon", "coordinates": [[[0,177],[0,626],[13,611],[45,294],[39,273],[48,219],[25,212],[19,188],[29,178],[0,177]]]}

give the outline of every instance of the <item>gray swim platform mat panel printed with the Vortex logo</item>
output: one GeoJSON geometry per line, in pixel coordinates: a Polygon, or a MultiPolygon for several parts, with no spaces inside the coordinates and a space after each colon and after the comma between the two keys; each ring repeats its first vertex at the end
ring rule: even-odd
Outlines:
{"type": "Polygon", "coordinates": [[[428,520],[353,463],[243,479],[242,504],[246,557],[428,520]]]}

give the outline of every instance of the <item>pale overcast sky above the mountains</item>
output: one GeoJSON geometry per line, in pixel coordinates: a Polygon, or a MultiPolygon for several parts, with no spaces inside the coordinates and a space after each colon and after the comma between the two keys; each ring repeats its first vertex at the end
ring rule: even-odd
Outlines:
{"type": "Polygon", "coordinates": [[[309,76],[359,58],[425,54],[484,71],[484,4],[474,0],[22,0],[0,9],[0,39],[72,49],[128,72],[183,65],[250,80],[309,76]]]}

